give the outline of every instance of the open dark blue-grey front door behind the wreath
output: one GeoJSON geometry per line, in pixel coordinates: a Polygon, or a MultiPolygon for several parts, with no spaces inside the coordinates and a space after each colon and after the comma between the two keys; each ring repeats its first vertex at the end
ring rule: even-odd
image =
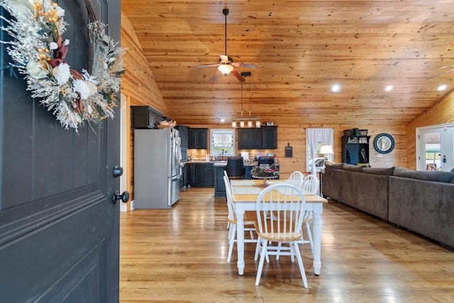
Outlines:
{"type": "MultiPolygon", "coordinates": [[[[93,1],[120,38],[120,1],[93,1]],[[116,23],[117,22],[117,23],[116,23]]],[[[59,1],[67,60],[88,67],[84,1],[59,1]],[[82,16],[82,17],[81,17],[82,16]]],[[[5,39],[0,33],[1,40],[5,39]]],[[[4,62],[9,62],[4,48],[4,62]]],[[[26,82],[0,75],[0,294],[3,302],[118,302],[120,111],[65,130],[26,82]]]]}

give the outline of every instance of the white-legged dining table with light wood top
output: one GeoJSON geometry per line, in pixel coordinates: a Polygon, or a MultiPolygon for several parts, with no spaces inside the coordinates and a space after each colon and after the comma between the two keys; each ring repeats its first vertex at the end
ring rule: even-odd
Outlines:
{"type": "MultiPolygon", "coordinates": [[[[286,183],[286,180],[269,180],[267,183],[279,184],[286,183]]],[[[244,274],[244,213],[245,211],[255,211],[255,205],[258,195],[263,187],[261,180],[231,180],[233,205],[237,219],[237,251],[238,251],[238,274],[244,274]]],[[[304,192],[305,211],[313,211],[314,225],[312,228],[312,241],[314,243],[314,273],[320,275],[321,270],[321,214],[323,213],[323,204],[328,200],[311,192],[304,192]]]]}

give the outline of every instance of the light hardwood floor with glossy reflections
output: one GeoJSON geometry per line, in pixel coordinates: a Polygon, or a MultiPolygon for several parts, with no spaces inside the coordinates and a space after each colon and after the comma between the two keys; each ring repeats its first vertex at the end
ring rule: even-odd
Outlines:
{"type": "Polygon", "coordinates": [[[171,210],[121,213],[120,301],[454,302],[453,252],[333,201],[323,209],[321,275],[301,247],[309,290],[289,257],[265,263],[256,287],[254,244],[243,276],[236,249],[226,262],[226,216],[212,188],[182,192],[171,210]]]}

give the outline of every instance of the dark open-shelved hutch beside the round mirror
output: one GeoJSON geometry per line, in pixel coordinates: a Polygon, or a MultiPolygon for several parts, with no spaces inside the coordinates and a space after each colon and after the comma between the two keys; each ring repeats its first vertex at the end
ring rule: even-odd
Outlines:
{"type": "Polygon", "coordinates": [[[368,165],[370,136],[342,136],[342,162],[368,165]]]}

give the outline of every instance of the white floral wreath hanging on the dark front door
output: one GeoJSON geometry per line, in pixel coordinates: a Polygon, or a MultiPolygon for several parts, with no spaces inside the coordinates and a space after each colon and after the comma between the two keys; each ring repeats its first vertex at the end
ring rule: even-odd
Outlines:
{"type": "Polygon", "coordinates": [[[10,64],[26,75],[31,97],[39,98],[65,129],[76,132],[84,121],[101,123],[106,117],[114,118],[124,50],[105,34],[104,23],[95,20],[88,25],[93,47],[90,75],[87,70],[72,70],[65,62],[70,41],[62,38],[67,23],[65,10],[58,4],[50,0],[0,0],[0,6],[15,19],[1,16],[8,23],[1,29],[13,38],[1,43],[10,45],[7,50],[15,62],[10,64]]]}

